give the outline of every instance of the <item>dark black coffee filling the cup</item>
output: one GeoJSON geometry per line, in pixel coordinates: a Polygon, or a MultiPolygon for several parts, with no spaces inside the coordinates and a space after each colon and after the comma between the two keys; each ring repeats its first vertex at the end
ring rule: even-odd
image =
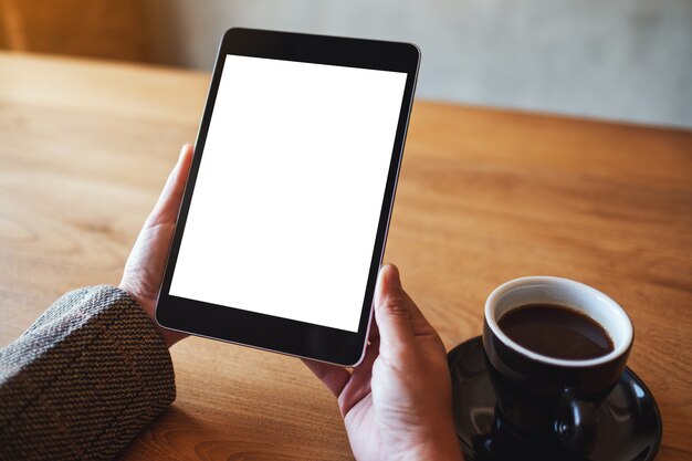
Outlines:
{"type": "Polygon", "coordinates": [[[614,350],[608,333],[591,317],[556,304],[525,304],[504,314],[500,329],[535,353],[572,360],[614,350]]]}

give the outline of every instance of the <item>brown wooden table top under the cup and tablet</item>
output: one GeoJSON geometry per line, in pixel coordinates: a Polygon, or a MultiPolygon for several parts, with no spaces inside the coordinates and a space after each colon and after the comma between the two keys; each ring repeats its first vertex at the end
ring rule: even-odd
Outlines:
{"type": "MultiPolygon", "coordinates": [[[[118,282],[208,78],[0,54],[0,345],[63,292],[118,282]]],[[[610,294],[663,415],[659,459],[692,459],[691,132],[419,102],[386,259],[448,348],[506,280],[610,294]]],[[[124,459],[350,458],[296,359],[200,338],[172,356],[178,399],[124,459]]]]}

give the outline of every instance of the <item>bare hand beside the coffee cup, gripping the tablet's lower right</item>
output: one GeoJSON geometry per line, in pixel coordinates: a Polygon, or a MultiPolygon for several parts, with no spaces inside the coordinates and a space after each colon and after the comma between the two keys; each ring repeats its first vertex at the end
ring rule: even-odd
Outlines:
{"type": "Polygon", "coordinates": [[[334,392],[357,460],[462,460],[442,340],[385,265],[363,363],[347,369],[305,362],[334,392]]]}

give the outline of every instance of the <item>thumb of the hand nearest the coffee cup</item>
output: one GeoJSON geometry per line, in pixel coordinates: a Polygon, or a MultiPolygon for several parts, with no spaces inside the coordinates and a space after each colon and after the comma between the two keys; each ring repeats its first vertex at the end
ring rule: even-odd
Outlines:
{"type": "Polygon", "coordinates": [[[375,291],[375,321],[379,328],[380,355],[406,350],[415,342],[411,324],[413,302],[406,294],[399,279],[399,270],[384,265],[379,270],[375,291]]]}

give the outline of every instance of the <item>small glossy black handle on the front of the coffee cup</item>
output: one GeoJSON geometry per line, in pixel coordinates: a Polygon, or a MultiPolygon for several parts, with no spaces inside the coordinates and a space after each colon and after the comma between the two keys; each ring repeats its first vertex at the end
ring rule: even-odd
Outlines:
{"type": "Polygon", "coordinates": [[[565,389],[557,406],[553,430],[568,451],[588,454],[596,448],[596,407],[565,389]]]}

